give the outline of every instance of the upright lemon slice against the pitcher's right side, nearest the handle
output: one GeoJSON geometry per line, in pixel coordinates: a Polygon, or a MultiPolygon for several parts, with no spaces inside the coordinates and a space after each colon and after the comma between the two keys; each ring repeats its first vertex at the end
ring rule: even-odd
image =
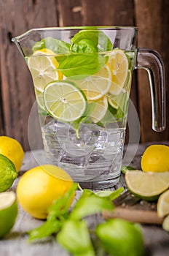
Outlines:
{"type": "Polygon", "coordinates": [[[128,72],[127,56],[123,50],[112,50],[107,56],[109,56],[108,64],[110,65],[112,72],[112,83],[109,92],[117,95],[125,86],[128,72]]]}

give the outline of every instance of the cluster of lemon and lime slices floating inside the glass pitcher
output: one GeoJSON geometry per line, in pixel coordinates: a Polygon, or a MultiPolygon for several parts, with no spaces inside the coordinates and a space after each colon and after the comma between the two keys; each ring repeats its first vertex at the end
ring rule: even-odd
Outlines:
{"type": "Polygon", "coordinates": [[[88,115],[94,123],[101,121],[109,105],[122,108],[124,88],[130,91],[131,83],[128,59],[119,49],[109,51],[106,57],[108,61],[95,74],[71,79],[60,72],[52,50],[36,50],[28,57],[28,67],[39,108],[63,122],[74,122],[88,115]],[[89,111],[90,103],[94,107],[89,111]]]}

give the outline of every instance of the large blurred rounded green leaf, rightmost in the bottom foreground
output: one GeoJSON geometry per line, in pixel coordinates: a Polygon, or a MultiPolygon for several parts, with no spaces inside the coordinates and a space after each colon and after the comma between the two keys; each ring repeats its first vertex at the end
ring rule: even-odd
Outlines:
{"type": "Polygon", "coordinates": [[[98,225],[95,233],[110,255],[144,255],[144,238],[138,224],[124,219],[109,219],[98,225]]]}

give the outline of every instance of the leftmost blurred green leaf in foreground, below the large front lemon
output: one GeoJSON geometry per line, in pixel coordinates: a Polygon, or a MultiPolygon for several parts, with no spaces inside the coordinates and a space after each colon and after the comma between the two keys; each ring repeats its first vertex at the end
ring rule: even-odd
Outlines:
{"type": "Polygon", "coordinates": [[[30,230],[28,232],[28,241],[37,241],[42,240],[43,238],[47,238],[51,236],[53,233],[57,233],[60,230],[61,222],[57,219],[54,221],[46,221],[39,227],[36,227],[34,230],[30,230]]]}

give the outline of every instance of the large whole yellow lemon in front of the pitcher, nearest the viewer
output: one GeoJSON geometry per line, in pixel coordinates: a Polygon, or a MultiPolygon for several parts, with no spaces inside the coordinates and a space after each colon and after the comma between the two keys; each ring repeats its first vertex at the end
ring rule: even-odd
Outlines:
{"type": "Polygon", "coordinates": [[[55,165],[40,165],[21,176],[16,190],[17,200],[32,217],[46,219],[52,202],[72,186],[71,176],[64,170],[55,165]]]}

